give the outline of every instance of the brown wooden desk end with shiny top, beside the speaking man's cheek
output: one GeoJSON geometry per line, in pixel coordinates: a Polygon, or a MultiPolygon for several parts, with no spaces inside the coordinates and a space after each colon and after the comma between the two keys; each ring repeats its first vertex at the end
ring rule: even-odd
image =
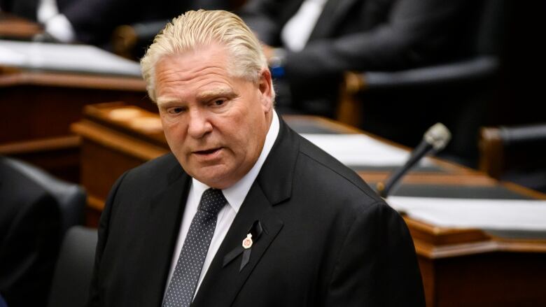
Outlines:
{"type": "Polygon", "coordinates": [[[97,224],[113,183],[125,171],[169,152],[156,113],[125,103],[86,106],[71,130],[83,141],[81,183],[90,196],[87,223],[97,224]]]}

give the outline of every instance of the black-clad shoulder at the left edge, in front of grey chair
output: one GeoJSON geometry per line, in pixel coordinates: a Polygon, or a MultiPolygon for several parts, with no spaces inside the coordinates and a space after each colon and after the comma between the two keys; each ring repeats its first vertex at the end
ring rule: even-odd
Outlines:
{"type": "Polygon", "coordinates": [[[57,201],[0,157],[0,294],[8,306],[47,304],[60,231],[57,201]]]}

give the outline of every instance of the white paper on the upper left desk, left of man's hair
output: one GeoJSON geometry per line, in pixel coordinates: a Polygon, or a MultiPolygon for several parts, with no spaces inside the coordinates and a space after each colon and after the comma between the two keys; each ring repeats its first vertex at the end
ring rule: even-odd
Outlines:
{"type": "Polygon", "coordinates": [[[27,69],[141,76],[138,62],[92,45],[0,40],[0,65],[27,69]]]}

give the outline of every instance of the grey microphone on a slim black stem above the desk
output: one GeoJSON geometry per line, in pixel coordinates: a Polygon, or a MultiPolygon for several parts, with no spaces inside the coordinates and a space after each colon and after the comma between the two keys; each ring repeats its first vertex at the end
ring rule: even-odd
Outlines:
{"type": "Polygon", "coordinates": [[[388,193],[393,190],[395,186],[398,185],[400,179],[407,173],[412,167],[419,162],[428,153],[436,153],[444,149],[444,147],[451,140],[451,132],[449,129],[444,126],[441,122],[437,122],[423,135],[423,140],[419,145],[413,150],[412,154],[407,159],[407,162],[397,169],[392,175],[391,178],[388,178],[386,183],[377,184],[377,192],[379,196],[386,198],[388,193]]]}

